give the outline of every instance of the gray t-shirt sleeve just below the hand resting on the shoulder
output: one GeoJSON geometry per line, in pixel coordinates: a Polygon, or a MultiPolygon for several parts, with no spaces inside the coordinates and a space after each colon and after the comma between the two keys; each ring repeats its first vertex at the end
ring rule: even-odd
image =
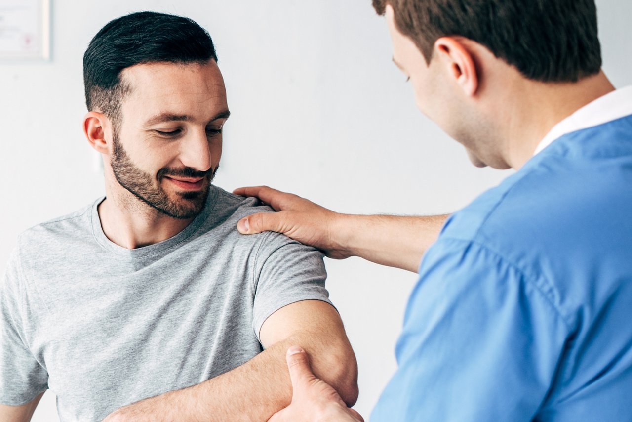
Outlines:
{"type": "Polygon", "coordinates": [[[266,232],[255,259],[253,330],[278,309],[299,301],[331,304],[323,254],[279,233],[266,232]]]}

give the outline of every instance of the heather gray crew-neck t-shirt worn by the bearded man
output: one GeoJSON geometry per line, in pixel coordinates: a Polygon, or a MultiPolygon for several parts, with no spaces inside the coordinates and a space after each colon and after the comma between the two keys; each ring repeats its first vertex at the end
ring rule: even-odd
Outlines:
{"type": "Polygon", "coordinates": [[[329,302],[320,252],[236,231],[270,211],[255,199],[211,187],[185,230],[131,250],[104,235],[102,200],[20,235],[0,283],[0,403],[50,388],[62,421],[100,420],[245,363],[277,309],[329,302]]]}

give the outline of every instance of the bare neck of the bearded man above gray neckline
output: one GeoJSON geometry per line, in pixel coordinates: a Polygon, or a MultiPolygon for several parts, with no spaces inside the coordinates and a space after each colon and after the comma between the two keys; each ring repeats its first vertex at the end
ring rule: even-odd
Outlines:
{"type": "Polygon", "coordinates": [[[140,201],[120,185],[106,183],[106,199],[97,208],[107,239],[136,249],[162,242],[184,230],[193,218],[178,220],[140,201]]]}

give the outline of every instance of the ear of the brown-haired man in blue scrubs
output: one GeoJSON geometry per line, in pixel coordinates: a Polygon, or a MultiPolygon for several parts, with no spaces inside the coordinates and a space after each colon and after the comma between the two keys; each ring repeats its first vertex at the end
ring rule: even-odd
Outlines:
{"type": "Polygon", "coordinates": [[[471,97],[478,89],[478,73],[474,58],[466,45],[455,37],[441,37],[435,41],[435,59],[446,66],[450,78],[471,97]]]}

